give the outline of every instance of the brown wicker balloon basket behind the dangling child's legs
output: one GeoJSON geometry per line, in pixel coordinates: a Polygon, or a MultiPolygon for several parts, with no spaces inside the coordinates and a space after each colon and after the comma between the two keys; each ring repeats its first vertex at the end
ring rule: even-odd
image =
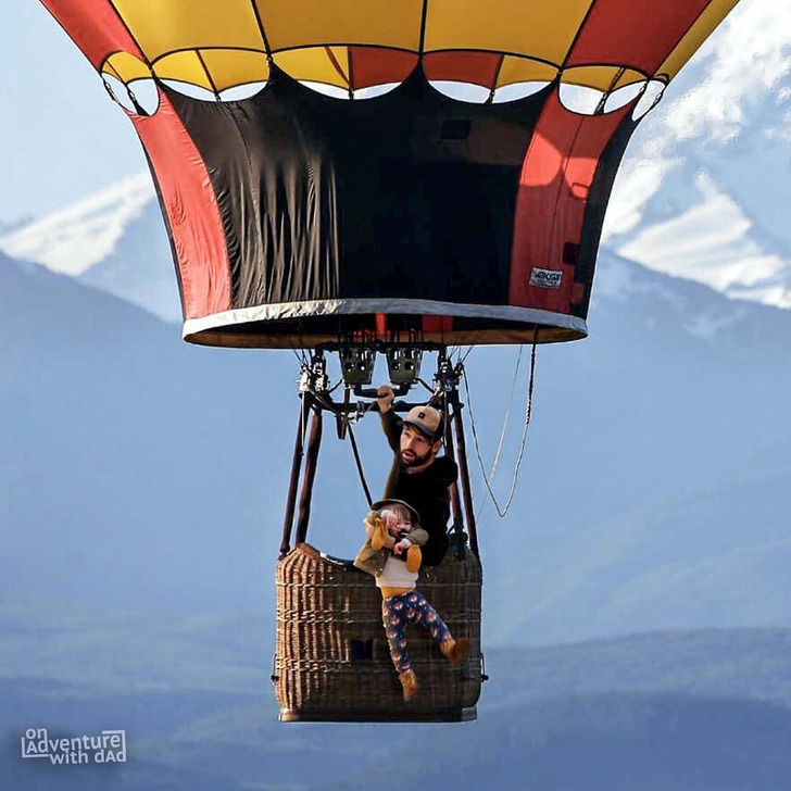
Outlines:
{"type": "Polygon", "coordinates": [[[300,544],[277,565],[277,653],[273,681],[281,721],[460,721],[480,695],[481,567],[465,547],[417,582],[453,637],[470,640],[454,667],[426,629],[409,632],[419,692],[404,703],[381,625],[381,594],[349,561],[300,544]]]}

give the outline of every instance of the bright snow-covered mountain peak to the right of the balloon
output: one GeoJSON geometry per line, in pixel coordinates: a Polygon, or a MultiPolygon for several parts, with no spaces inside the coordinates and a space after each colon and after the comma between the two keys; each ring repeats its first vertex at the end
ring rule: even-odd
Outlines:
{"type": "Polygon", "coordinates": [[[791,7],[742,2],[631,141],[604,247],[791,306],[791,7]]]}

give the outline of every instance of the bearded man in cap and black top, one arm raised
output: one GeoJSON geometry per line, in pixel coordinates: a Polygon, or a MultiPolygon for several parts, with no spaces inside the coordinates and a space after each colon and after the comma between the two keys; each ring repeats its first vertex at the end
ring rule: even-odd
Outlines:
{"type": "Polygon", "coordinates": [[[428,532],[423,564],[436,566],[448,551],[449,487],[459,467],[452,459],[437,455],[442,447],[442,415],[434,406],[415,406],[402,420],[392,409],[394,399],[389,385],[377,390],[381,427],[395,454],[384,498],[403,500],[417,511],[420,527],[428,532]]]}

